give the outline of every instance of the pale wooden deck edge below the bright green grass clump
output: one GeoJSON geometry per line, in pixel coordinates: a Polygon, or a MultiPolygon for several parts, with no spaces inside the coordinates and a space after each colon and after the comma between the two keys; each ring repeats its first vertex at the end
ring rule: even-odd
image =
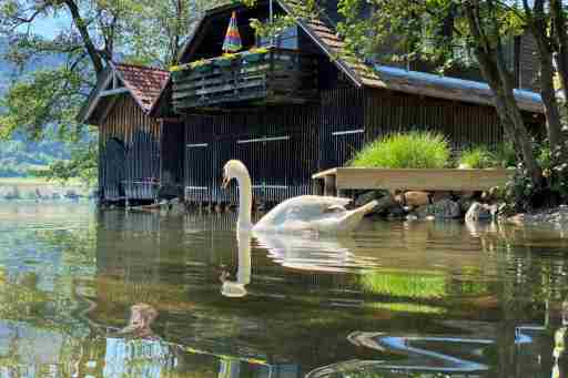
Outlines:
{"type": "Polygon", "coordinates": [[[339,195],[345,190],[487,191],[504,185],[514,170],[385,170],[337,167],[312,175],[314,193],[339,195]]]}

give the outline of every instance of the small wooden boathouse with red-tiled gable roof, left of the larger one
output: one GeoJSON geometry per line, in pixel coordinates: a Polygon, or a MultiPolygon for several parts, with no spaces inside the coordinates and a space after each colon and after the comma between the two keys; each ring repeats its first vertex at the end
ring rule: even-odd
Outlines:
{"type": "Polygon", "coordinates": [[[168,71],[109,64],[79,120],[99,127],[102,201],[154,201],[161,180],[162,121],[148,115],[168,71]]]}

